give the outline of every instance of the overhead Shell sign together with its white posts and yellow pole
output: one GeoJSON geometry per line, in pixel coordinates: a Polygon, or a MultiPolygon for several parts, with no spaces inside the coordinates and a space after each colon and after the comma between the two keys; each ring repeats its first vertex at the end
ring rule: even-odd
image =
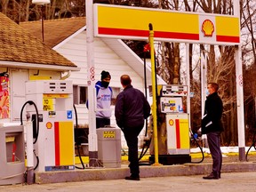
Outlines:
{"type": "MultiPolygon", "coordinates": [[[[94,36],[116,39],[149,40],[151,47],[151,72],[153,86],[153,77],[155,75],[154,41],[185,43],[187,44],[187,55],[188,44],[218,44],[235,46],[234,56],[236,62],[236,102],[238,116],[239,159],[245,160],[244,91],[240,42],[240,4],[239,1],[233,0],[232,2],[234,15],[221,15],[203,12],[174,12],[163,9],[149,9],[140,7],[134,8],[109,4],[92,4],[92,1],[88,0],[86,1],[86,25],[88,27],[86,31],[88,55],[87,63],[88,68],[94,68],[94,36]],[[152,26],[154,26],[154,31],[152,26]]],[[[90,71],[88,71],[88,79],[90,79],[90,71]]],[[[93,90],[93,81],[91,80],[89,83],[90,86],[88,87],[88,90],[90,92],[93,90]]],[[[188,84],[190,84],[189,80],[188,84]]],[[[154,95],[156,97],[156,93],[153,92],[153,100],[154,95]]],[[[89,95],[88,99],[89,101],[94,100],[92,95],[89,95]]],[[[156,111],[154,106],[152,111],[156,111]]],[[[89,121],[89,126],[94,127],[95,114],[93,111],[89,113],[89,119],[91,120],[89,121]]],[[[156,127],[156,117],[153,120],[154,127],[156,127]]],[[[96,130],[92,130],[92,134],[89,134],[89,143],[90,140],[95,140],[94,138],[97,136],[95,131],[96,130]]],[[[154,135],[154,137],[156,138],[155,141],[157,141],[157,134],[154,135]]],[[[156,142],[155,145],[157,146],[156,142]]],[[[92,146],[91,149],[89,148],[89,151],[91,150],[91,154],[93,150],[96,151],[96,148],[96,145],[92,146]]],[[[158,156],[156,148],[155,153],[158,156]]]]}

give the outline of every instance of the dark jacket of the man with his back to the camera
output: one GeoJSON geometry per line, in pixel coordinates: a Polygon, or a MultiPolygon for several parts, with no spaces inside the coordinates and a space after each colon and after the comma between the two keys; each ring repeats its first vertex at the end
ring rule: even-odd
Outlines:
{"type": "Polygon", "coordinates": [[[150,106],[143,92],[135,89],[132,85],[124,88],[116,99],[115,116],[116,124],[121,128],[132,126],[143,127],[144,119],[150,115],[150,106]]]}

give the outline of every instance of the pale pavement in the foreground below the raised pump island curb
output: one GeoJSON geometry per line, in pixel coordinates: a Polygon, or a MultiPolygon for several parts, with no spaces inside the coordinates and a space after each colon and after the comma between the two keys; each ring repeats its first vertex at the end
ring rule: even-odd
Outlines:
{"type": "Polygon", "coordinates": [[[224,172],[220,180],[203,180],[203,175],[149,177],[135,180],[86,180],[52,184],[0,186],[8,192],[255,192],[256,172],[224,172]]]}

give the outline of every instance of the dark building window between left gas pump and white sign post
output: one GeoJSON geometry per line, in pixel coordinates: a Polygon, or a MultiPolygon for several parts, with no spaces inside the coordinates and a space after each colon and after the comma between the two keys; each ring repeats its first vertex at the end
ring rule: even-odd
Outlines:
{"type": "Polygon", "coordinates": [[[73,100],[74,104],[85,104],[87,100],[87,87],[80,85],[73,85],[73,100]]]}

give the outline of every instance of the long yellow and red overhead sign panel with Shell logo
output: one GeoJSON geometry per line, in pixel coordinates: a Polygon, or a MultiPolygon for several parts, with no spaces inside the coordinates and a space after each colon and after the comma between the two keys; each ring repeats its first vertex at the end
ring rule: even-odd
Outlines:
{"type": "Polygon", "coordinates": [[[232,15],[174,12],[141,7],[93,4],[94,36],[189,44],[240,44],[240,20],[232,15]]]}

